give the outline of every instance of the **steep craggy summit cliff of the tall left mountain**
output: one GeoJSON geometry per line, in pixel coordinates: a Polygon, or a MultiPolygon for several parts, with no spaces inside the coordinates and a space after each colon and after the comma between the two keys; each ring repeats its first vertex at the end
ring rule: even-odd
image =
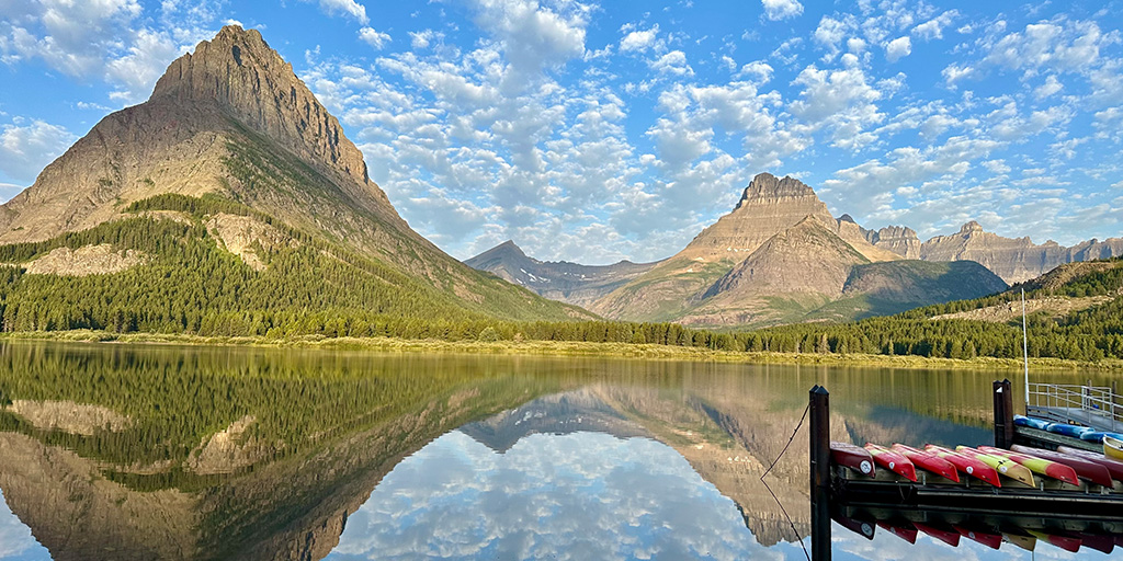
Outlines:
{"type": "Polygon", "coordinates": [[[363,154],[256,29],[223,27],[172,63],[149,102],[218,103],[254,131],[282,144],[322,172],[368,184],[363,154]]]}

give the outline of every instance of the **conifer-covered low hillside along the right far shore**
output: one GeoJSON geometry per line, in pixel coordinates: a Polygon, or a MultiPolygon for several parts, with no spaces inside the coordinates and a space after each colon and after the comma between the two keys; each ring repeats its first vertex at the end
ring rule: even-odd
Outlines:
{"type": "Polygon", "coordinates": [[[1023,288],[1028,301],[1044,302],[1028,316],[1031,357],[1071,360],[1123,358],[1123,259],[1120,258],[1068,264],[1040,278],[1015,285],[1007,292],[984,298],[949,302],[852,323],[800,324],[763,330],[749,334],[747,348],[948,358],[1021,357],[1020,297],[1023,288]],[[1090,305],[1066,311],[1072,307],[1070,304],[1081,300],[1090,305]],[[1001,321],[934,319],[995,309],[1010,313],[1002,314],[1001,321]]]}

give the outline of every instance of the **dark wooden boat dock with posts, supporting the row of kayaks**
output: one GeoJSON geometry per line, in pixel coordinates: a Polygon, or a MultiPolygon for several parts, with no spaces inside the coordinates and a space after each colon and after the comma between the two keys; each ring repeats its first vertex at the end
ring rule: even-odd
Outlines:
{"type": "MultiPolygon", "coordinates": [[[[1101,444],[1015,425],[1010,380],[995,381],[993,389],[995,448],[992,450],[1006,453],[1011,447],[1021,444],[1056,451],[1065,445],[1102,454],[1101,444]]],[[[832,519],[870,540],[877,528],[883,528],[912,542],[921,532],[952,546],[958,545],[960,537],[993,549],[1014,544],[1032,550],[1038,541],[1072,552],[1081,546],[1111,552],[1116,541],[1123,546],[1123,480],[1108,479],[1112,484],[1108,487],[1107,481],[1096,484],[1083,476],[1077,481],[1074,473],[1070,480],[1079,485],[1038,476],[1030,486],[1006,477],[1004,469],[1002,485],[995,486],[967,475],[953,481],[922,470],[920,465],[914,473],[901,475],[900,469],[884,466],[874,470],[873,463],[866,471],[865,465],[840,460],[838,456],[858,447],[836,444],[832,453],[827,389],[813,387],[809,399],[811,549],[816,561],[831,559],[832,519]],[[914,476],[915,480],[905,476],[914,476]]],[[[1102,399],[1094,396],[1089,403],[1104,403],[1102,399]]]]}

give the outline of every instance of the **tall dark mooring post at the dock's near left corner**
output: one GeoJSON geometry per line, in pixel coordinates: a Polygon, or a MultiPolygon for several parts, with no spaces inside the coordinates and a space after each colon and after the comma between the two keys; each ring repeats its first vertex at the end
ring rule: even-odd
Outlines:
{"type": "Polygon", "coordinates": [[[811,388],[811,557],[831,559],[831,407],[827,388],[811,388]]]}

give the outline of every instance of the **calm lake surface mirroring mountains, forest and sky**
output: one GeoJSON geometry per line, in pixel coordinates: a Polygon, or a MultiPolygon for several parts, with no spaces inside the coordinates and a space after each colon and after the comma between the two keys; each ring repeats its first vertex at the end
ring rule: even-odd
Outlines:
{"type": "MultiPolygon", "coordinates": [[[[0,559],[805,559],[806,430],[776,499],[760,476],[809,388],[836,440],[974,445],[1003,376],[0,343],[0,559]]],[[[834,559],[1030,559],[832,534],[834,559]]]]}

